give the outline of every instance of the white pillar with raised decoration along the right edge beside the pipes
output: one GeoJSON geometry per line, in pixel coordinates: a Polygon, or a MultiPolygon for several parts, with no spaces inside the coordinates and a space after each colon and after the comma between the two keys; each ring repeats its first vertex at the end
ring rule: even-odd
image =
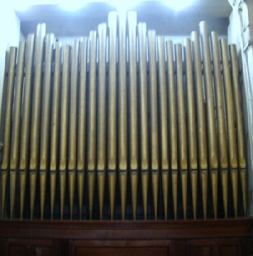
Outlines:
{"type": "Polygon", "coordinates": [[[248,154],[248,210],[253,216],[253,1],[228,0],[233,7],[229,17],[228,43],[236,44],[243,72],[246,152],[248,154]]]}

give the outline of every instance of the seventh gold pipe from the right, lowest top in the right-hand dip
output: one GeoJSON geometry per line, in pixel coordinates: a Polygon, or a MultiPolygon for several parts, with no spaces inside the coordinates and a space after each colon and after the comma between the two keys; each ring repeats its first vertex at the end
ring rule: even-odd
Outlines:
{"type": "Polygon", "coordinates": [[[177,102],[179,113],[179,168],[181,171],[181,189],[184,220],[186,220],[187,207],[187,141],[186,141],[186,117],[184,106],[184,81],[182,67],[182,46],[176,44],[176,78],[177,78],[177,102]]]}

